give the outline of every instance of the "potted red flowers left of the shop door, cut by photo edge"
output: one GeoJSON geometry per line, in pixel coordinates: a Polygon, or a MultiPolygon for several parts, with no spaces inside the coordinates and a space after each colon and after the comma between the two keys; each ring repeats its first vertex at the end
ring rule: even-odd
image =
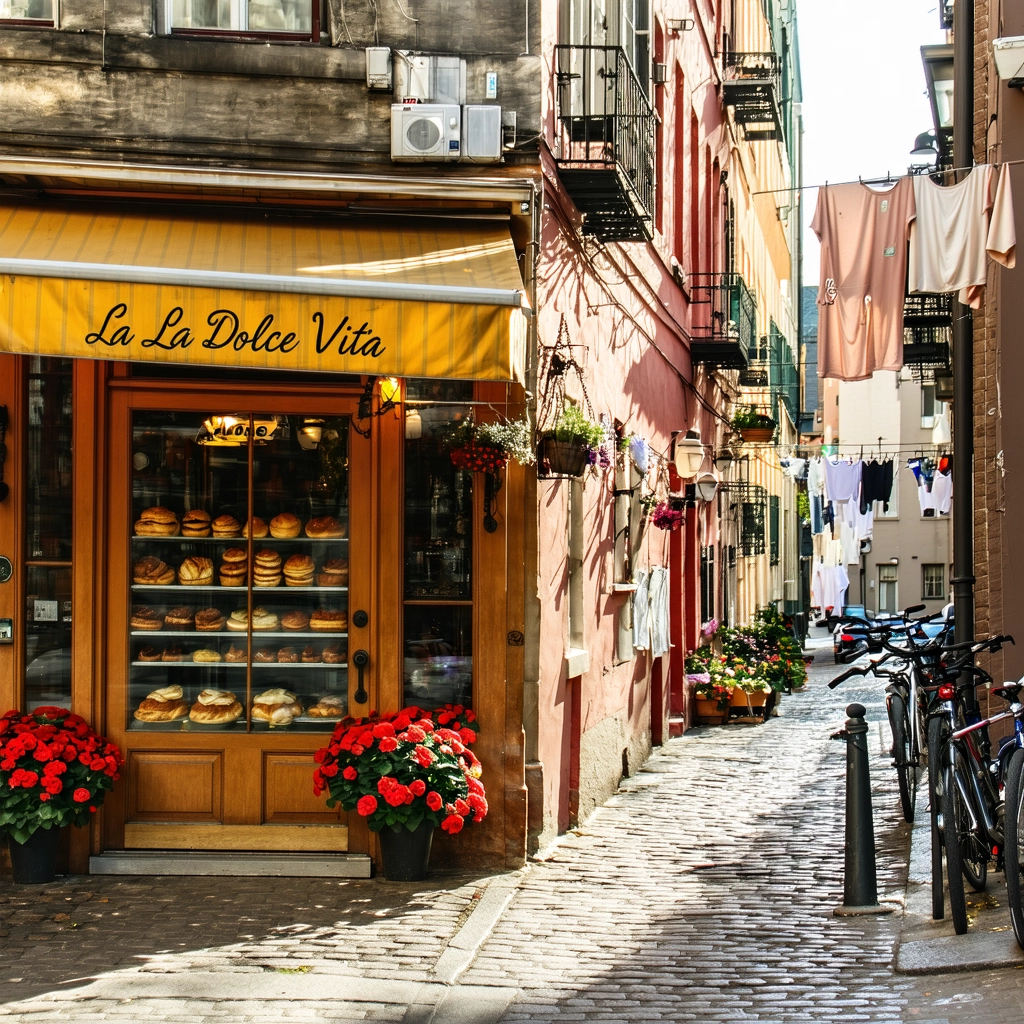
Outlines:
{"type": "Polygon", "coordinates": [[[84,825],[120,778],[121,751],[66,708],[0,718],[0,833],[14,881],[52,882],[65,825],[84,825]]]}

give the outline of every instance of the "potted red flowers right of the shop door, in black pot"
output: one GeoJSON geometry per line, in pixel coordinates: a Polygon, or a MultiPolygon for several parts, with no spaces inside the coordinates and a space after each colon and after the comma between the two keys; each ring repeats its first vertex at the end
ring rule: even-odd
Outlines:
{"type": "Polygon", "coordinates": [[[475,718],[461,705],[446,705],[433,714],[414,707],[343,719],[313,755],[313,794],[326,790],[329,807],[341,804],[367,819],[380,835],[391,881],[426,877],[438,825],[454,836],[467,820],[486,816],[480,762],[469,749],[475,718]]]}

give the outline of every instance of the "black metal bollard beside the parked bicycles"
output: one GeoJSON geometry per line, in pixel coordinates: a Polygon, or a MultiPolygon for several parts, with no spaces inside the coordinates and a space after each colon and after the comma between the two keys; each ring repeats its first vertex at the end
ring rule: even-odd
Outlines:
{"type": "Polygon", "coordinates": [[[846,739],[846,876],[840,915],[891,913],[879,903],[874,867],[874,822],[871,817],[871,773],[867,763],[864,706],[849,705],[846,739]]]}

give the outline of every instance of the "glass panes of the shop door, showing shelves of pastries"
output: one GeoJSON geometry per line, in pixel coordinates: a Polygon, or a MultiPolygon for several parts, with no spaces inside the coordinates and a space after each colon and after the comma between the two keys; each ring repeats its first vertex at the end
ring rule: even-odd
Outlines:
{"type": "Polygon", "coordinates": [[[348,443],[347,417],[133,413],[129,729],[347,713],[348,443]]]}

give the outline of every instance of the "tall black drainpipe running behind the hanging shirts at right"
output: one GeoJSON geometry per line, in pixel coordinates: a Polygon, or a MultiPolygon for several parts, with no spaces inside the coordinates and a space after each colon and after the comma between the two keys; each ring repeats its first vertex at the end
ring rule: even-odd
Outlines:
{"type": "MultiPolygon", "coordinates": [[[[953,8],[953,167],[973,166],[973,135],[974,0],[956,0],[953,8]]],[[[953,609],[956,642],[963,643],[974,639],[974,332],[970,307],[955,298],[953,456],[953,609]]]]}

